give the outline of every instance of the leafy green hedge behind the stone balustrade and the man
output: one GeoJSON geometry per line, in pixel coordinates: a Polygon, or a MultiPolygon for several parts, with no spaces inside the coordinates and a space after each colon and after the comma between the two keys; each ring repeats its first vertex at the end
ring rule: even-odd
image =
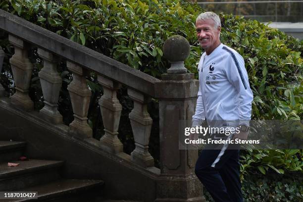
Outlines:
{"type": "MultiPolygon", "coordinates": [[[[184,36],[191,45],[185,66],[198,76],[197,64],[202,49],[196,37],[195,19],[203,10],[197,4],[179,0],[2,0],[0,8],[154,77],[160,77],[169,66],[163,58],[164,41],[172,35],[184,36]]],[[[219,15],[222,43],[237,50],[245,60],[254,94],[252,118],[302,119],[303,41],[255,20],[219,15]]],[[[39,65],[36,60],[36,74],[41,68],[39,65]]],[[[63,66],[63,86],[66,86],[71,77],[63,66]]],[[[2,80],[4,77],[2,74],[2,80]]],[[[39,86],[35,82],[37,80],[32,81],[32,86],[39,86]]],[[[94,96],[92,108],[97,110],[101,89],[93,74],[88,84],[94,96]]],[[[33,90],[34,94],[37,89],[33,90]]],[[[35,95],[41,96],[41,93],[35,95]]],[[[60,95],[61,101],[66,102],[61,104],[60,101],[60,112],[65,111],[66,116],[72,117],[67,91],[60,95]]],[[[121,122],[126,123],[132,104],[125,91],[119,95],[124,110],[121,122]]],[[[152,104],[156,107],[156,102],[152,104]]],[[[101,118],[93,109],[89,113],[89,123],[98,133],[101,118]]],[[[157,110],[151,107],[150,113],[157,120],[157,110]]],[[[124,130],[131,133],[129,127],[124,130]]],[[[154,139],[157,130],[152,131],[151,148],[158,148],[158,140],[154,139]]],[[[132,139],[120,138],[124,138],[124,142],[132,139]]],[[[128,150],[132,149],[133,145],[128,150]]],[[[279,175],[293,171],[302,174],[302,159],[302,150],[242,151],[241,178],[245,181],[252,174],[273,170],[281,173],[279,175]]]]}

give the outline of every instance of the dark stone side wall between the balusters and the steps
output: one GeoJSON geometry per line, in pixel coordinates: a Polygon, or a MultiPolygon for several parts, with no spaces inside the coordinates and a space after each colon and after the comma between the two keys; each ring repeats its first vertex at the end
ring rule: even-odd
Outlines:
{"type": "Polygon", "coordinates": [[[1,140],[26,141],[26,154],[31,158],[64,161],[61,172],[64,178],[103,180],[106,186],[100,191],[105,199],[155,200],[157,174],[116,154],[104,152],[98,146],[68,136],[68,126],[39,119],[36,111],[20,112],[4,103],[3,99],[0,101],[1,140]]]}

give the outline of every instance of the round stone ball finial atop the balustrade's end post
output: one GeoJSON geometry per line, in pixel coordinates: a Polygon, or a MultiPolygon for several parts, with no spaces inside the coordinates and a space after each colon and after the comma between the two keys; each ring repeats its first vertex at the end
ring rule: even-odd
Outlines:
{"type": "Polygon", "coordinates": [[[187,69],[184,67],[184,60],[188,57],[190,50],[190,45],[184,37],[180,35],[169,37],[163,46],[164,57],[171,63],[167,73],[187,73],[187,69]]]}

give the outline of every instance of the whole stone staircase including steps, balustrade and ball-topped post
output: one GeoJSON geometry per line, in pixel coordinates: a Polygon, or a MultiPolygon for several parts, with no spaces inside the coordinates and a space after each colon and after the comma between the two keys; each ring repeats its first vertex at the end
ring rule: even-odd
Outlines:
{"type": "MultiPolygon", "coordinates": [[[[26,182],[28,185],[23,187],[41,185],[32,187],[36,190],[31,191],[51,196],[49,190],[63,187],[63,182],[60,186],[50,184],[59,182],[62,173],[68,178],[102,179],[106,186],[101,192],[100,189],[96,192],[102,194],[97,199],[102,202],[104,199],[206,201],[202,195],[201,182],[194,172],[198,151],[180,149],[180,137],[184,136],[179,135],[184,133],[184,127],[190,126],[189,120],[195,112],[199,89],[199,81],[194,79],[193,73],[187,73],[184,67],[184,60],[190,53],[190,45],[185,38],[173,36],[165,42],[163,55],[171,62],[171,67],[167,69],[167,74],[162,74],[161,79],[158,79],[1,9],[0,30],[5,36],[8,35],[7,40],[14,49],[9,61],[7,56],[10,55],[3,53],[0,54],[0,60],[5,59],[5,68],[11,68],[16,90],[14,95],[7,98],[1,95],[4,89],[1,90],[0,86],[0,140],[27,142],[26,153],[23,154],[29,158],[64,161],[62,166],[60,161],[30,160],[31,165],[21,162],[19,167],[7,168],[7,160],[18,159],[22,154],[22,149],[14,146],[20,153],[8,154],[10,157],[0,154],[7,158],[0,158],[0,162],[3,162],[0,169],[6,169],[0,170],[5,173],[0,173],[0,186],[3,182],[2,186],[19,190],[17,184],[21,186],[19,184],[26,182]],[[43,61],[38,77],[45,105],[39,112],[34,110],[34,103],[29,96],[33,71],[36,71],[28,57],[28,53],[33,50],[37,50],[43,61]],[[62,62],[73,74],[73,80],[67,86],[74,116],[69,125],[63,123],[57,109],[63,80],[56,67],[62,62]],[[98,101],[99,109],[89,108],[93,89],[87,85],[86,77],[91,73],[94,73],[98,85],[103,89],[103,95],[98,101]],[[135,143],[131,153],[124,152],[118,138],[118,131],[123,130],[120,124],[123,107],[117,93],[122,87],[127,89],[134,106],[127,119],[132,130],[127,131],[127,134],[133,135],[135,143]],[[149,109],[152,100],[157,102],[158,109],[149,109]],[[100,140],[94,139],[93,130],[88,124],[89,110],[101,112],[104,135],[100,140]],[[151,116],[150,110],[158,110],[158,116],[151,116]],[[159,143],[158,146],[155,143],[159,143]],[[151,154],[150,147],[157,152],[151,154]],[[155,157],[159,167],[155,167],[155,157]],[[14,173],[10,173],[14,169],[14,173]],[[31,175],[36,176],[28,177],[31,175]],[[6,185],[8,178],[14,180],[14,183],[6,185]],[[32,179],[39,181],[32,182],[32,179]],[[42,189],[46,184],[51,188],[42,189]]],[[[67,184],[70,188],[70,184],[76,183],[67,184]]],[[[79,187],[85,187],[83,184],[79,187]]],[[[52,193],[69,192],[62,190],[52,193]]],[[[86,195],[83,202],[88,202],[89,190],[81,195],[86,195]]],[[[73,195],[65,196],[67,199],[57,201],[68,201],[73,195]]],[[[55,194],[53,197],[56,198],[55,194]]],[[[75,199],[81,201],[80,197],[75,199]]],[[[97,202],[96,198],[94,200],[97,202]]]]}

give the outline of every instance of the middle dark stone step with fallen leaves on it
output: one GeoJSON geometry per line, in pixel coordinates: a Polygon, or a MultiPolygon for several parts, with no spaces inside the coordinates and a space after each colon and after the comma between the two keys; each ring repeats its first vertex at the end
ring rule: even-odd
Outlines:
{"type": "Polygon", "coordinates": [[[0,191],[17,191],[59,179],[59,168],[63,161],[37,160],[12,161],[16,167],[0,163],[0,191]]]}

